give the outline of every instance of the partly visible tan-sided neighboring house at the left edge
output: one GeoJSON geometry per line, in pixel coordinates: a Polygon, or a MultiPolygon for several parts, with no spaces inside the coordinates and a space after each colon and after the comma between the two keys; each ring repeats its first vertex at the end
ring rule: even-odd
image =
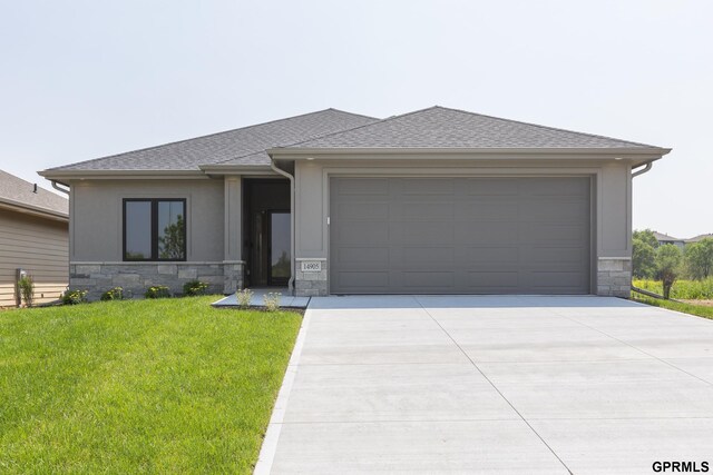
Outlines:
{"type": "Polygon", "coordinates": [[[17,305],[18,269],[35,280],[35,303],[57,300],[69,284],[69,204],[0,170],[0,307],[17,305]]]}

